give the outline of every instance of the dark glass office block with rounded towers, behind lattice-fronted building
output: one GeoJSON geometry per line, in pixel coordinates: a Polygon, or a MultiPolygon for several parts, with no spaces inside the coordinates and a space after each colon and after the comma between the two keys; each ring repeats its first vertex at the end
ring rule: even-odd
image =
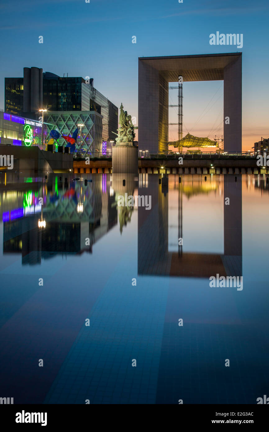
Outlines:
{"type": "Polygon", "coordinates": [[[103,140],[114,140],[118,108],[93,86],[93,78],[60,77],[38,67],[24,67],[23,78],[5,78],[5,111],[37,119],[38,110],[96,111],[103,116],[103,140]]]}

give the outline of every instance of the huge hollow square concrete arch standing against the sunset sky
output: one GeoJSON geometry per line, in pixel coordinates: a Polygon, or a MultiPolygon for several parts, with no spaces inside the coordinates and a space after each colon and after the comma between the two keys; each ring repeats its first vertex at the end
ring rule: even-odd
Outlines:
{"type": "Polygon", "coordinates": [[[242,150],[242,53],[139,57],[139,149],[168,150],[168,86],[224,80],[224,150],[242,150]],[[229,124],[225,124],[229,117],[229,124]]]}

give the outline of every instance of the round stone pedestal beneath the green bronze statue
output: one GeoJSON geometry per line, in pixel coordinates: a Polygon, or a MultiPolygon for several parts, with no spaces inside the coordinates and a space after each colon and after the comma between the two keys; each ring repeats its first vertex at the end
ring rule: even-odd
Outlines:
{"type": "Polygon", "coordinates": [[[112,147],[112,173],[138,174],[138,147],[133,143],[112,147]]]}

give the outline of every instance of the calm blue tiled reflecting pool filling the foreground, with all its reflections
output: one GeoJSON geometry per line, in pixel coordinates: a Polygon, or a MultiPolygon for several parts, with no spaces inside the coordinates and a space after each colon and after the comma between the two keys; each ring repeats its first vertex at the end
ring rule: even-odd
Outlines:
{"type": "Polygon", "coordinates": [[[268,211],[266,175],[1,173],[0,396],[256,403],[268,211]]]}

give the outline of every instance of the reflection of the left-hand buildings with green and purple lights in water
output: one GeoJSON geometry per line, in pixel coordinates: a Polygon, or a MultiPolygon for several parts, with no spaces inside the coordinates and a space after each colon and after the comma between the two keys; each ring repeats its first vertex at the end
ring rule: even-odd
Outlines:
{"type": "Polygon", "coordinates": [[[4,253],[21,253],[22,264],[40,264],[54,254],[92,252],[93,244],[117,224],[107,176],[96,176],[88,186],[73,181],[66,186],[53,176],[38,191],[2,192],[4,253]],[[38,229],[41,210],[46,226],[38,229]]]}

